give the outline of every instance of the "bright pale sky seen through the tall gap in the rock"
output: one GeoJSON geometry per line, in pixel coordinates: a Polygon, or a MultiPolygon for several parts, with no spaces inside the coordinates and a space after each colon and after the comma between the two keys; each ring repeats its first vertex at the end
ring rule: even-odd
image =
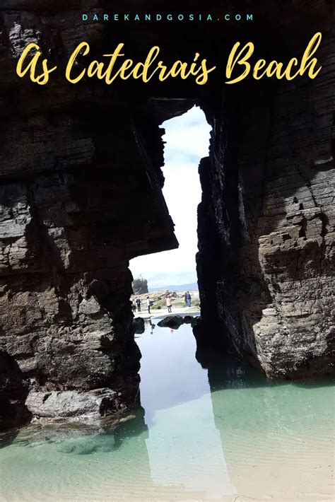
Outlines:
{"type": "Polygon", "coordinates": [[[148,279],[149,288],[196,282],[196,209],[201,201],[198,165],[208,155],[211,131],[204,112],[195,106],[162,127],[166,142],[163,194],[180,247],[131,260],[134,279],[140,275],[148,279]]]}

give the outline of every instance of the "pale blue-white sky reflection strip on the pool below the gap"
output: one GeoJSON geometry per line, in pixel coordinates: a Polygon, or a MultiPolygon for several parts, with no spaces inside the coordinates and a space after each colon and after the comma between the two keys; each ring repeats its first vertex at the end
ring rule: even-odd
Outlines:
{"type": "Polygon", "coordinates": [[[143,355],[141,404],[150,428],[146,446],[153,481],[165,485],[178,480],[198,496],[204,488],[205,496],[209,487],[212,496],[234,494],[214,420],[207,370],[194,357],[191,328],[158,327],[137,342],[143,355]]]}

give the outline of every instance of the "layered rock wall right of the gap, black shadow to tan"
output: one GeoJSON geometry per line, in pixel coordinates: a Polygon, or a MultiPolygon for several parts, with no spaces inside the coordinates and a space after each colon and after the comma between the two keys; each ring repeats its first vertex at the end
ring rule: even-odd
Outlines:
{"type": "Polygon", "coordinates": [[[317,23],[319,76],[226,92],[200,165],[199,341],[233,346],[271,378],[335,369],[335,31],[317,23]]]}

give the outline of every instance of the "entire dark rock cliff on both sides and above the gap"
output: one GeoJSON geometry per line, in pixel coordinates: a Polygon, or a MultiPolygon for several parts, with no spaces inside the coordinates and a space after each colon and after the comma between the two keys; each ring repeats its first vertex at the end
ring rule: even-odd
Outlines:
{"type": "MultiPolygon", "coordinates": [[[[81,13],[102,12],[107,1],[45,4],[4,0],[0,11],[0,347],[7,361],[0,390],[8,409],[16,407],[13,423],[18,404],[22,420],[54,418],[57,409],[65,418],[96,419],[136,400],[140,354],[128,264],[177,246],[161,192],[159,125],[195,103],[213,127],[210,156],[200,165],[199,344],[233,346],[269,376],[331,373],[331,4],[268,1],[252,8],[256,21],[243,29],[190,23],[173,40],[170,23],[83,25],[81,13]],[[236,40],[283,59],[301,54],[316,30],[324,35],[324,68],[315,81],[223,86],[236,40]],[[62,69],[82,40],[92,57],[122,41],[129,57],[143,60],[159,42],[167,61],[201,52],[218,69],[206,86],[177,79],[72,86],[59,71],[41,88],[16,76],[28,42],[62,69]]],[[[127,11],[162,5],[129,2],[127,11]]],[[[231,10],[221,2],[211,8],[231,10]]],[[[126,9],[113,3],[112,10],[126,9]]]]}

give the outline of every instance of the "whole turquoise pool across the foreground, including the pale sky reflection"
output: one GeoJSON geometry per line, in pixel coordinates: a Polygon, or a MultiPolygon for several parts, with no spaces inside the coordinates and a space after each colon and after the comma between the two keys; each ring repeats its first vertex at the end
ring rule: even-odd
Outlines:
{"type": "Polygon", "coordinates": [[[189,325],[136,335],[141,405],[113,434],[28,428],[0,450],[1,501],[332,501],[334,387],[208,370],[189,325]]]}

